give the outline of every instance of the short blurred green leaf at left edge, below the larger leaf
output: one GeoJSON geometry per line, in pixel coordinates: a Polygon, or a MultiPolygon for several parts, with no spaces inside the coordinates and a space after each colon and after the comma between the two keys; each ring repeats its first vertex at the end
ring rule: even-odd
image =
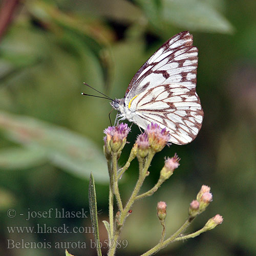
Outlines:
{"type": "Polygon", "coordinates": [[[27,169],[46,161],[46,151],[40,148],[31,150],[24,147],[11,147],[0,150],[0,168],[2,169],[27,169]]]}

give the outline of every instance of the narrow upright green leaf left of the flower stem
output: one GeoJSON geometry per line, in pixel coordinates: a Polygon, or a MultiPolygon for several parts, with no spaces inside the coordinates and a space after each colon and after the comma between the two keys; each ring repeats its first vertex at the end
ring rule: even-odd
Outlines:
{"type": "Polygon", "coordinates": [[[97,199],[96,199],[94,178],[92,173],[90,175],[90,181],[89,181],[89,206],[90,206],[91,221],[94,228],[94,240],[96,243],[97,254],[98,256],[101,256],[101,250],[100,250],[100,244],[99,244],[100,240],[99,240],[97,199]]]}

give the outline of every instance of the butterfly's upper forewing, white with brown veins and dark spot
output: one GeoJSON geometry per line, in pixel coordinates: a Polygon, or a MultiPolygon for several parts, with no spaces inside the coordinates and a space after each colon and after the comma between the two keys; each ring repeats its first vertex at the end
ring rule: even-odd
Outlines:
{"type": "Polygon", "coordinates": [[[166,41],[139,69],[125,92],[125,98],[160,84],[177,83],[196,87],[198,50],[193,36],[181,32],[166,41]]]}

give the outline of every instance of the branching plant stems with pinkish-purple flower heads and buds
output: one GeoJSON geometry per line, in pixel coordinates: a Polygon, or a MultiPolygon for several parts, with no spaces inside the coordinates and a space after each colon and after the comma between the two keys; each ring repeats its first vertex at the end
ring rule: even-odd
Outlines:
{"type": "MultiPolygon", "coordinates": [[[[121,151],[126,144],[126,138],[129,132],[131,131],[130,127],[125,123],[120,123],[116,126],[109,126],[104,130],[104,154],[108,161],[109,175],[110,175],[110,193],[109,193],[109,222],[104,222],[106,231],[108,232],[109,238],[111,238],[115,243],[119,239],[121,228],[131,213],[134,202],[142,198],[152,196],[160,186],[173,175],[174,170],[177,169],[180,165],[180,158],[175,153],[173,157],[167,157],[164,162],[164,166],[160,171],[160,177],[157,183],[149,190],[140,194],[140,189],[143,185],[145,178],[150,175],[148,169],[151,166],[152,159],[157,152],[163,150],[165,145],[169,144],[170,134],[166,131],[166,128],[162,129],[159,124],[151,123],[147,126],[144,133],[141,133],[136,142],[133,145],[129,159],[121,167],[118,168],[118,159],[120,157],[121,151]],[[131,162],[137,157],[139,162],[139,175],[134,190],[131,194],[130,199],[123,206],[122,198],[118,188],[118,182],[122,178],[124,172],[129,168],[131,162]],[[114,215],[114,199],[116,199],[118,211],[114,215]],[[115,217],[114,217],[115,216],[115,217]],[[108,225],[106,225],[108,223],[108,225]]],[[[166,203],[163,201],[158,202],[157,204],[157,217],[162,225],[162,234],[159,243],[148,250],[143,255],[150,256],[160,249],[164,248],[167,244],[170,244],[175,241],[186,240],[188,238],[194,238],[199,236],[200,233],[215,228],[217,225],[223,222],[223,218],[220,215],[209,219],[205,226],[200,230],[190,233],[183,234],[186,228],[190,223],[201,214],[209,203],[212,201],[212,194],[210,193],[210,187],[203,185],[197,194],[197,199],[193,200],[188,209],[188,217],[185,223],[181,228],[165,239],[166,236],[166,203]]],[[[112,246],[109,249],[108,255],[114,256],[116,247],[112,246]]]]}

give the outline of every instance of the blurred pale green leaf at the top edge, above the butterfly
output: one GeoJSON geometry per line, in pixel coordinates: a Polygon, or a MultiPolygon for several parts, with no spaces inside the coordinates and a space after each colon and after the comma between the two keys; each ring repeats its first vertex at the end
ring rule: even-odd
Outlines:
{"type": "Polygon", "coordinates": [[[214,7],[199,0],[163,0],[163,19],[185,29],[232,33],[233,27],[214,7]]]}

